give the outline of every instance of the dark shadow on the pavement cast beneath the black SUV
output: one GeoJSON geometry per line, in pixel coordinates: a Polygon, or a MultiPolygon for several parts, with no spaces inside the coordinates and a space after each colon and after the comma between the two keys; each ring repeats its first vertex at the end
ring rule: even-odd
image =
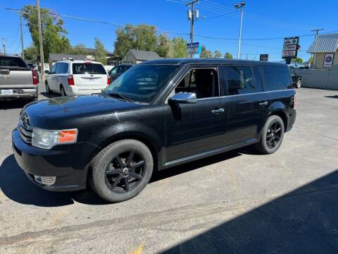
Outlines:
{"type": "MultiPolygon", "coordinates": [[[[205,167],[209,164],[231,159],[239,155],[238,152],[227,152],[206,159],[200,159],[196,162],[187,163],[179,167],[159,171],[152,176],[151,182],[199,169],[200,167],[205,167]]],[[[51,192],[35,186],[27,179],[27,176],[16,163],[13,155],[4,159],[4,162],[0,165],[0,189],[6,197],[15,202],[41,207],[71,205],[74,201],[87,205],[108,204],[104,200],[101,200],[91,188],[84,191],[51,192]]]]}

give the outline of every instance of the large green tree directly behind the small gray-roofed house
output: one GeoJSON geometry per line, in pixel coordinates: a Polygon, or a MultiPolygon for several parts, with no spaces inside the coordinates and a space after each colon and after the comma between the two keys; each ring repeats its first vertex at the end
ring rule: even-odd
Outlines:
{"type": "Polygon", "coordinates": [[[129,49],[156,51],[158,38],[154,25],[139,24],[136,26],[127,24],[125,28],[116,30],[114,53],[123,57],[129,49]]]}

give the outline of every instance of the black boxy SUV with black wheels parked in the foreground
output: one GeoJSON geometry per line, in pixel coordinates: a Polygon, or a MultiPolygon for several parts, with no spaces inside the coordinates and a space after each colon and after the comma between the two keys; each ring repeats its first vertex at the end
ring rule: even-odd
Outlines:
{"type": "Polygon", "coordinates": [[[154,170],[255,145],[280,147],[296,118],[280,63],[163,59],[134,66],[100,95],[28,104],[15,159],[49,191],[85,188],[109,202],[139,194],[154,170]]]}

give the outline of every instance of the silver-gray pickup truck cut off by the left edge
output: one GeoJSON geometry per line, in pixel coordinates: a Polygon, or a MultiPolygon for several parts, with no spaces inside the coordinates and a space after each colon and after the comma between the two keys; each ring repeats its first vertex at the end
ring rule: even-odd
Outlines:
{"type": "Polygon", "coordinates": [[[0,54],[0,100],[37,100],[38,73],[20,56],[0,54]]]}

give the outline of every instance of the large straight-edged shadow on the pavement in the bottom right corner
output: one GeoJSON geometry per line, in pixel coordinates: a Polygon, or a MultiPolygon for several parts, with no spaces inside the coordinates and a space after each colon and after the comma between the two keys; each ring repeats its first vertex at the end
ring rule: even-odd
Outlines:
{"type": "Polygon", "coordinates": [[[338,171],[163,253],[338,253],[338,171]]]}

